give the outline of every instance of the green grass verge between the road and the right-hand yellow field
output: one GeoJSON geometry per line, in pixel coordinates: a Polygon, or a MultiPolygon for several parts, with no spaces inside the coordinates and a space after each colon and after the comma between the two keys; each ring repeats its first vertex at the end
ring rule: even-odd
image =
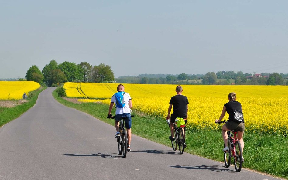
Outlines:
{"type": "MultiPolygon", "coordinates": [[[[74,104],[58,97],[55,91],[53,96],[61,104],[81,110],[101,121],[114,125],[113,120],[106,118],[108,114],[108,105],[106,104],[74,104]]],[[[171,147],[171,141],[168,139],[170,129],[164,119],[137,112],[134,114],[135,117],[132,118],[133,134],[171,147]]],[[[288,138],[245,132],[244,142],[244,168],[288,179],[288,138]]],[[[185,151],[188,153],[223,162],[223,140],[220,131],[192,131],[187,129],[186,144],[185,151]]],[[[233,165],[233,160],[231,163],[233,165]]]]}

